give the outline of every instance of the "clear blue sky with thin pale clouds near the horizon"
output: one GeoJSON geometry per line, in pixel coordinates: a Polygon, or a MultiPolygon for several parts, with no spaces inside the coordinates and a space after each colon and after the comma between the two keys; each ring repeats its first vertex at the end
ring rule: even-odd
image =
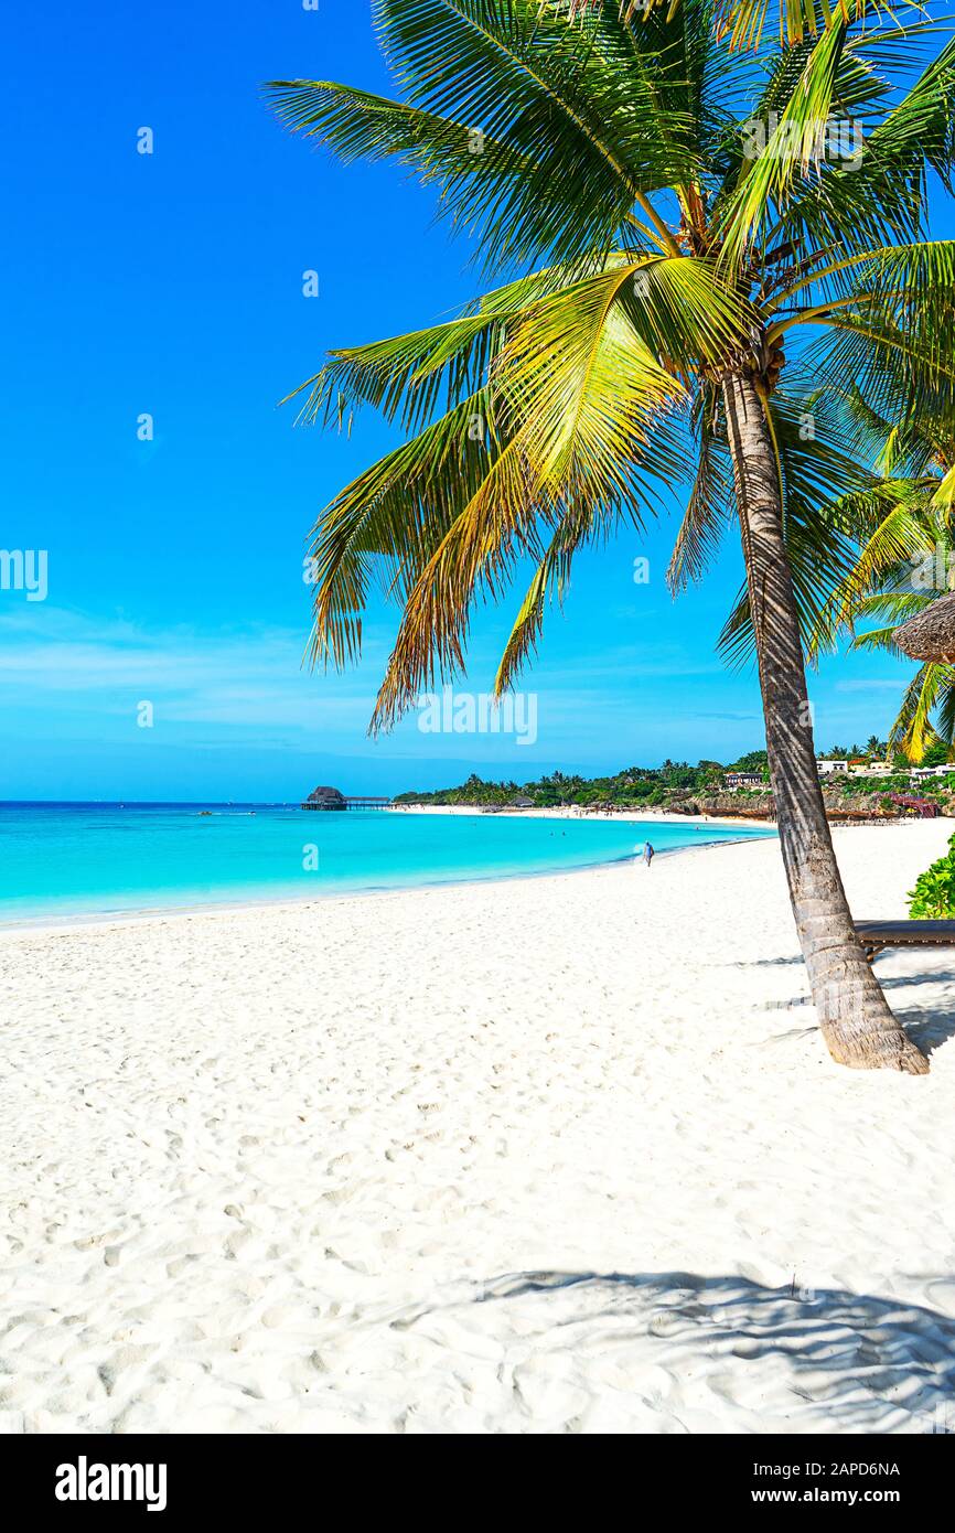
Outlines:
{"type": "MultiPolygon", "coordinates": [[[[357,670],[302,670],[305,537],[394,438],[371,414],[351,440],[293,429],[276,402],[328,346],[418,328],[475,291],[429,193],[394,167],[340,167],[259,97],[299,75],[388,90],[365,0],[46,0],[6,35],[0,547],[46,549],[49,592],[0,590],[0,799],[294,800],[317,782],[386,793],[762,744],[756,676],[714,655],[737,550],[674,604],[667,506],[642,544],[581,560],[524,682],[533,744],[423,734],[414,717],[366,739],[395,627],[379,607],[357,670]]],[[[461,687],[491,687],[515,601],[478,615],[461,687]]],[[[884,731],[901,676],[826,662],[820,745],[884,731]]]]}

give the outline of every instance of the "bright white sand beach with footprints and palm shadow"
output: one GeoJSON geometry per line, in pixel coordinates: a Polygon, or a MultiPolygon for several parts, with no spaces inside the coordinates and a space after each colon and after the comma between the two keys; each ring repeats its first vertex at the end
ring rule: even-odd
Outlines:
{"type": "MultiPolygon", "coordinates": [[[[835,832],[904,914],[949,822],[835,832]]],[[[0,934],[8,1432],[955,1427],[955,952],[834,1065],[779,846],[0,934]]]]}

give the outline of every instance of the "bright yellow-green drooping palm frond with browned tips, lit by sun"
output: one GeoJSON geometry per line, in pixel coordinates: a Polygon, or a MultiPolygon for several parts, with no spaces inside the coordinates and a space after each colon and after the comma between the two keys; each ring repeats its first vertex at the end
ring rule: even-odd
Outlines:
{"type": "Polygon", "coordinates": [[[503,446],[408,595],[374,728],[461,667],[475,596],[497,599],[523,553],[544,561],[541,529],[552,538],[567,507],[602,523],[655,512],[648,457],[656,475],[684,472],[667,426],[684,391],[618,302],[632,279],[621,268],[573,284],[535,305],[507,343],[491,383],[503,446]]]}

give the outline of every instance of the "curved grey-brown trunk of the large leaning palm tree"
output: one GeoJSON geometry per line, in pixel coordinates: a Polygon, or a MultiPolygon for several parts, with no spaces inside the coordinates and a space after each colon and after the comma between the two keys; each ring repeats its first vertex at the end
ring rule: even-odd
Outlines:
{"type": "Polygon", "coordinates": [[[724,380],[724,403],[756,630],[766,751],[796,929],[819,1024],[838,1064],[924,1075],[855,935],[816,766],[776,451],[750,376],[724,380]]]}

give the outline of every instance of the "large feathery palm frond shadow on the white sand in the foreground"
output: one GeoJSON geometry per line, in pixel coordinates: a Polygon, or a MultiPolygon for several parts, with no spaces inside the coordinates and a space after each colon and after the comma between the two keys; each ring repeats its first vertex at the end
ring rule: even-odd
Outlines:
{"type": "MultiPolygon", "coordinates": [[[[955,1277],[920,1286],[955,1314],[955,1277]]],[[[570,1366],[593,1398],[619,1390],[624,1430],[955,1432],[955,1318],[901,1298],[690,1272],[526,1271],[391,1325],[460,1335],[475,1305],[506,1306],[494,1331],[520,1337],[524,1366],[570,1366]],[[701,1410],[719,1424],[701,1427],[701,1410]]]]}

